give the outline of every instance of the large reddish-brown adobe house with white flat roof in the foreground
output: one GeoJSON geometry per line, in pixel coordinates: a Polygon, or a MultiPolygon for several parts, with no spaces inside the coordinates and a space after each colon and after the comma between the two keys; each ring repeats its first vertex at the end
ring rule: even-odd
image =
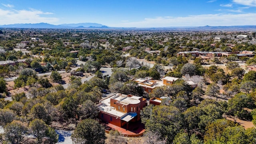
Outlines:
{"type": "Polygon", "coordinates": [[[140,120],[140,110],[146,106],[146,98],[114,93],[101,99],[97,106],[100,120],[128,130],[131,122],[140,120]]]}

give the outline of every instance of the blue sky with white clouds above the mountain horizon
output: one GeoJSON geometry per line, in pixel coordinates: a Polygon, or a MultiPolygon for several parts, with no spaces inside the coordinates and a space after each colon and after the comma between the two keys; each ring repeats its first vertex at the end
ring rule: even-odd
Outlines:
{"type": "Polygon", "coordinates": [[[256,0],[0,0],[0,25],[40,22],[142,28],[256,25],[256,0]]]}

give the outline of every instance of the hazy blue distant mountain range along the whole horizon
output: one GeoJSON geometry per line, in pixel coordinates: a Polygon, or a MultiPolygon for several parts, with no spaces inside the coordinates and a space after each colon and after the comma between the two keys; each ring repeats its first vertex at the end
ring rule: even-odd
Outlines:
{"type": "Polygon", "coordinates": [[[198,27],[157,27],[157,28],[118,28],[109,27],[98,23],[78,23],[53,25],[48,23],[38,24],[7,24],[0,28],[66,28],[66,29],[134,29],[134,30],[256,30],[256,26],[198,26],[198,27]]]}

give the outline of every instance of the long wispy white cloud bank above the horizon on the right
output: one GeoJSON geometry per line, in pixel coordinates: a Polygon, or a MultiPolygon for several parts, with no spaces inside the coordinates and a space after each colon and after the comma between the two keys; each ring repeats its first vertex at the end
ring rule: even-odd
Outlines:
{"type": "Polygon", "coordinates": [[[168,26],[234,26],[255,25],[256,13],[252,14],[204,14],[187,17],[145,18],[139,22],[122,22],[120,27],[168,27],[168,26]]]}

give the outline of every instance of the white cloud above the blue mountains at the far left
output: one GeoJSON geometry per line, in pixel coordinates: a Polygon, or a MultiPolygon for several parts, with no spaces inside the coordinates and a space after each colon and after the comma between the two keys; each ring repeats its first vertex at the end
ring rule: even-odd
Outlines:
{"type": "Polygon", "coordinates": [[[52,14],[50,12],[42,12],[30,8],[29,10],[3,10],[0,9],[0,25],[3,24],[16,24],[16,23],[53,23],[58,22],[58,18],[45,17],[42,15],[52,14]]]}

